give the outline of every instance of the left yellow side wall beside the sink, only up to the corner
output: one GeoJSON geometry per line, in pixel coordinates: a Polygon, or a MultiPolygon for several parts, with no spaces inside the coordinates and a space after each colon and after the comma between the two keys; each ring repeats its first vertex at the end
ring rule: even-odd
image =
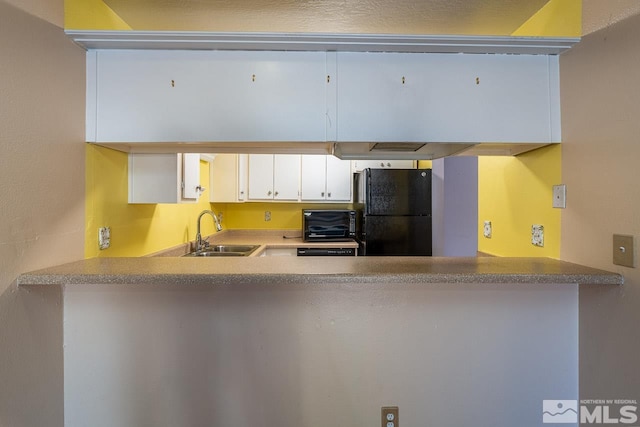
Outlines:
{"type": "MultiPolygon", "coordinates": [[[[198,214],[211,208],[208,194],[198,203],[129,204],[127,169],[126,153],[86,144],[85,256],[147,255],[195,239],[198,214]],[[99,250],[103,226],[111,227],[111,247],[99,250]]],[[[200,183],[208,187],[206,162],[200,162],[200,183]]],[[[210,219],[202,226],[203,233],[214,232],[210,219]]]]}

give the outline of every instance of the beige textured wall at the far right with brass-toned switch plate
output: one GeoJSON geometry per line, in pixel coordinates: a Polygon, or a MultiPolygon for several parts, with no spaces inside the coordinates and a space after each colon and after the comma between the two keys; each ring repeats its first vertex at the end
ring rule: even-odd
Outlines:
{"type": "Polygon", "coordinates": [[[612,234],[640,235],[640,16],[590,34],[560,60],[561,258],[616,271],[580,289],[580,395],[640,400],[640,270],[612,263],[612,234]]]}

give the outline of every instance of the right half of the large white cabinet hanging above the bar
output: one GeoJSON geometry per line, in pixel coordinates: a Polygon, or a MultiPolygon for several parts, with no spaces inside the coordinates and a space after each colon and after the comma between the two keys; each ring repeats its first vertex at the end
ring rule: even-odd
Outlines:
{"type": "Polygon", "coordinates": [[[556,68],[546,55],[338,52],[337,140],[559,141],[556,68]]]}

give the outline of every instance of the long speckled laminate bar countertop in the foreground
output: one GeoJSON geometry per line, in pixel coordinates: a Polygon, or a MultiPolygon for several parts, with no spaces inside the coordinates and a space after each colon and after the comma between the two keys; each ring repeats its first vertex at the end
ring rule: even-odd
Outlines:
{"type": "Polygon", "coordinates": [[[577,283],[621,275],[548,258],[225,257],[94,258],[22,274],[18,284],[281,285],[303,283],[577,283]]]}

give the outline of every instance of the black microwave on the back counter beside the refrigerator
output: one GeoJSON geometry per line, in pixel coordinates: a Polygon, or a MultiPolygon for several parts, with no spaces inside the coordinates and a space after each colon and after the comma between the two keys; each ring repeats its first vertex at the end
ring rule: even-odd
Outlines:
{"type": "Polygon", "coordinates": [[[356,237],[356,211],[302,210],[302,237],[305,242],[340,242],[356,237]]]}

